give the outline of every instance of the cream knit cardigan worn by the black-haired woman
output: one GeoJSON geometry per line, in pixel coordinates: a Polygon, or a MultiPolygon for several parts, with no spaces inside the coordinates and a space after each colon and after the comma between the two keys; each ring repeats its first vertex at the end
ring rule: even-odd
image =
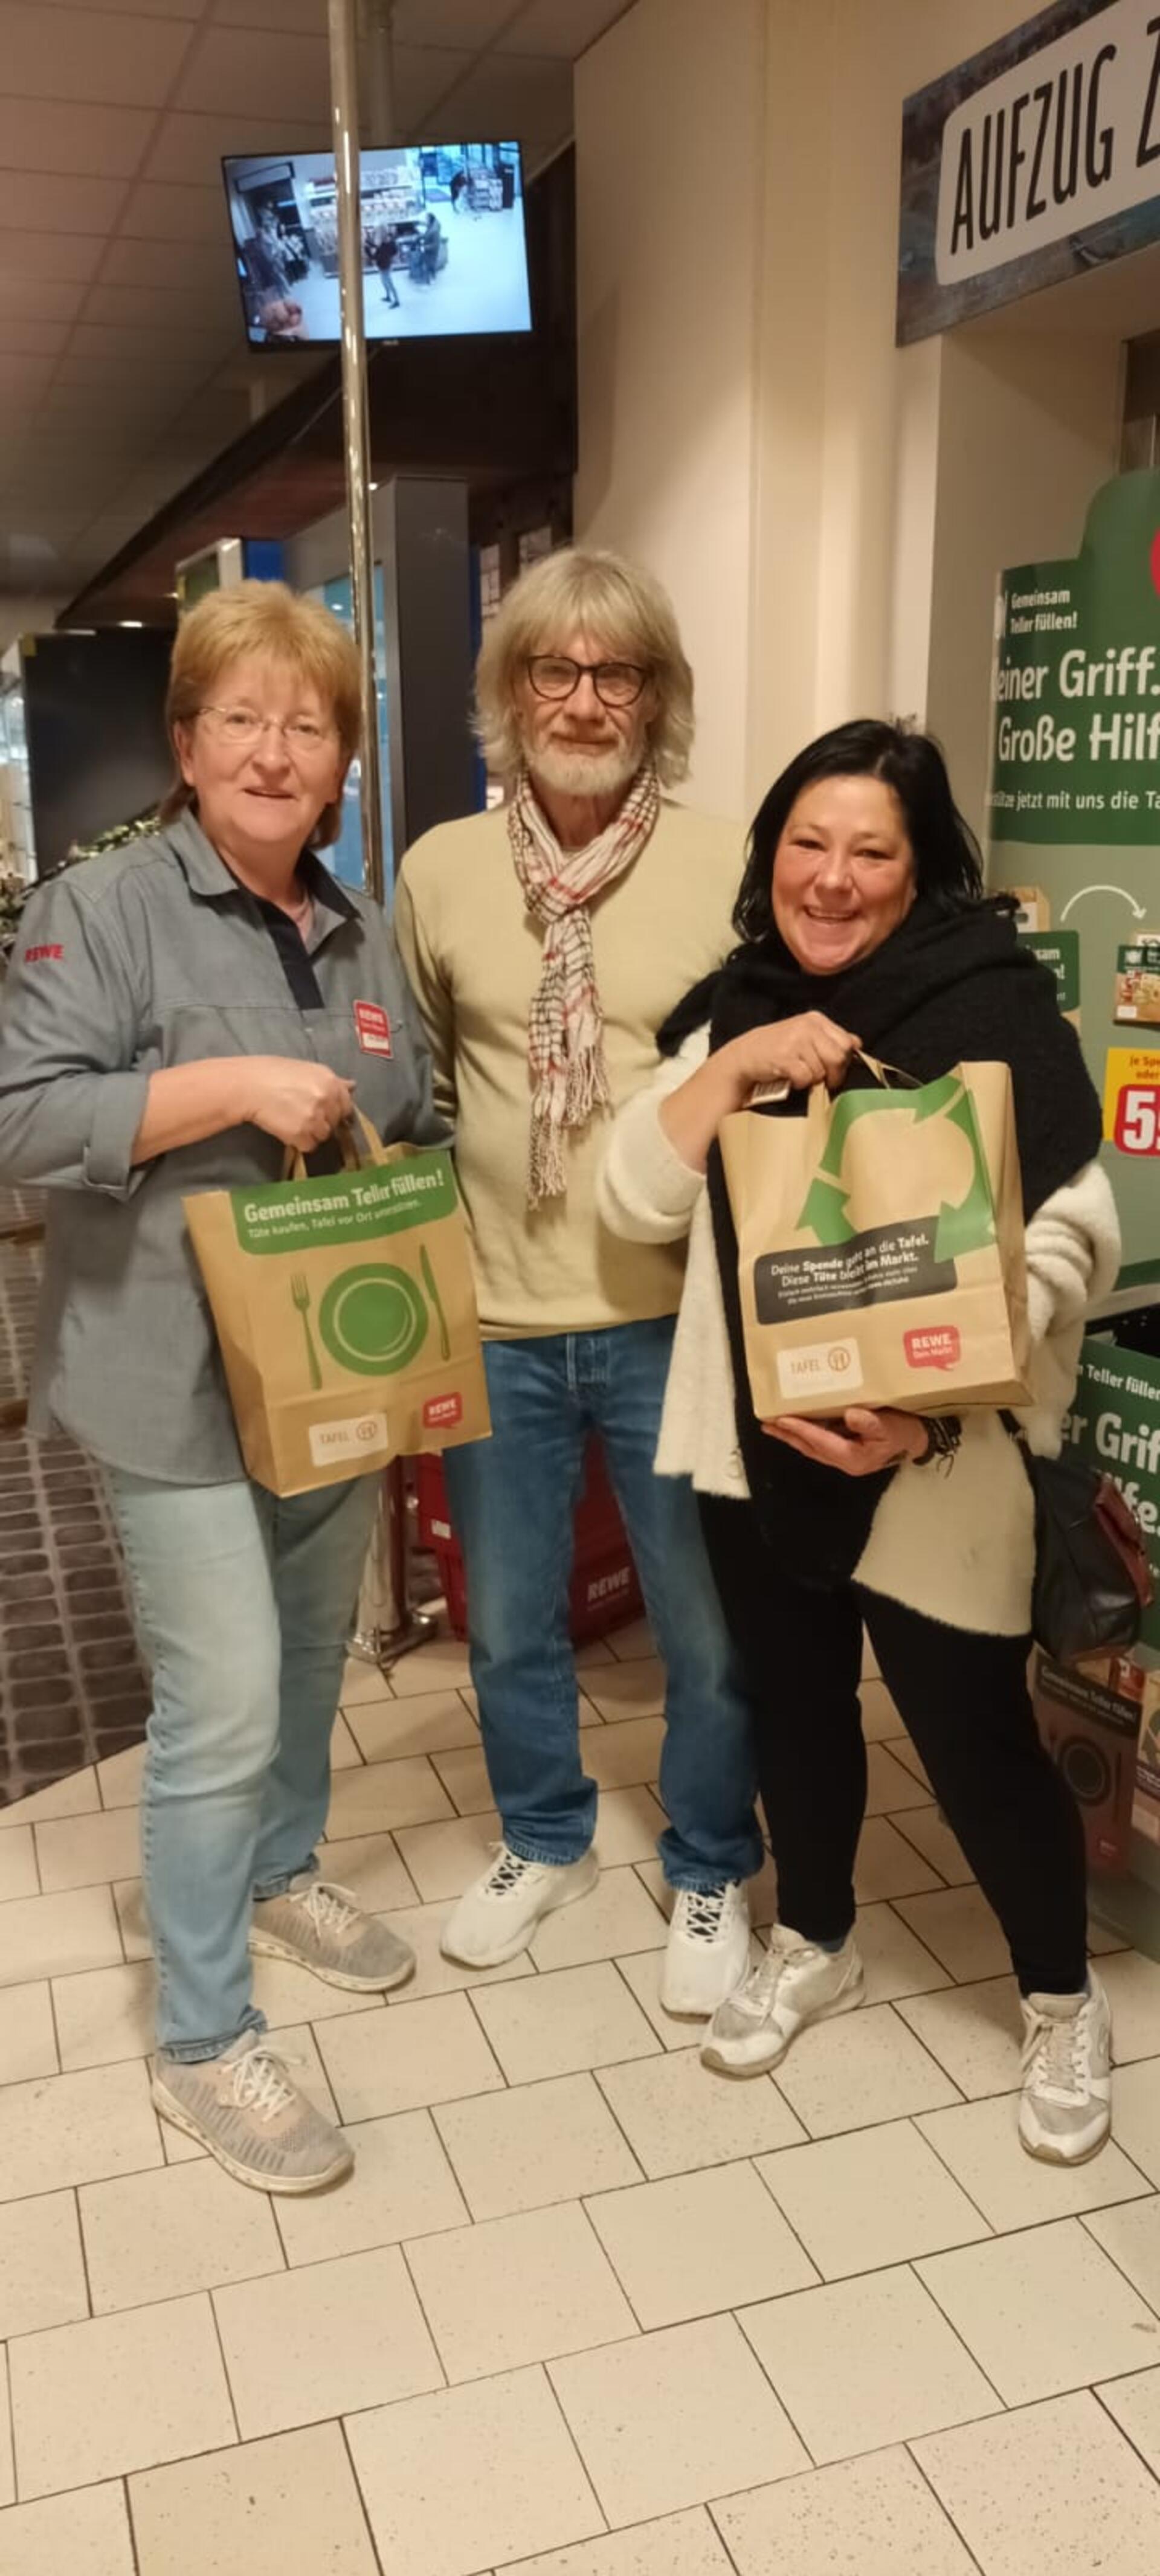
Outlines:
{"type": "MultiPolygon", "coordinates": [[[[688,1236],[657,1473],[691,1476],[701,1494],[745,1499],[709,1193],[704,1175],[681,1162],[660,1126],[665,1092],[678,1090],[706,1054],[709,1033],[701,1028],[619,1113],[598,1206],[606,1226],[634,1242],[688,1236]]],[[[1021,1422],[1044,1458],[1062,1445],[1088,1306],[1106,1296],[1116,1270],[1116,1206],[1103,1167],[1090,1162],[1036,1208],[1026,1229],[1034,1404],[1021,1422]]],[[[1034,1515],[1023,1463],[995,1412],[967,1412],[949,1473],[910,1461],[897,1468],[856,1582],[951,1628],[1023,1636],[1031,1625],[1031,1577],[1034,1515]]]]}

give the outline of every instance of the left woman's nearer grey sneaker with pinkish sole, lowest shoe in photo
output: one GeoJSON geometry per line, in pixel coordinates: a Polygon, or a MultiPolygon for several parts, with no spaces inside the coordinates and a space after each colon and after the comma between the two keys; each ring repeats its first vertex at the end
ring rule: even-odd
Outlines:
{"type": "Polygon", "coordinates": [[[196,2066],[155,2056],[152,2099],[162,2120],[258,2192],[320,2192],[353,2166],[343,2130],[307,2102],[258,2030],[196,2066]]]}

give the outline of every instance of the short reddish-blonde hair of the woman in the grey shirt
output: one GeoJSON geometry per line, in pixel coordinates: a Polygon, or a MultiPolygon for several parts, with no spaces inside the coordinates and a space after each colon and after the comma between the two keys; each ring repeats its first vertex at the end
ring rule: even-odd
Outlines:
{"type": "MultiPolygon", "coordinates": [[[[170,685],[165,693],[165,726],[178,752],[175,726],[193,724],[214,688],[235,662],[266,654],[294,670],[299,680],[317,688],[322,706],[351,762],[363,729],[361,665],[353,636],[320,600],[302,600],[286,582],[237,582],[232,590],[214,590],[178,626],[170,659],[170,685]]],[[[173,822],[193,806],[193,788],[178,778],[160,809],[162,822],[173,822]]],[[[338,840],[340,806],[325,804],[309,835],[314,850],[338,840]]]]}

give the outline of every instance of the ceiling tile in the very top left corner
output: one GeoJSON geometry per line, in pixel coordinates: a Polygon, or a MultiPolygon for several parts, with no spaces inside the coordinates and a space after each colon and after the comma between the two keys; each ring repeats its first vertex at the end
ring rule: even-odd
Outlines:
{"type": "Polygon", "coordinates": [[[191,33],[186,21],[0,0],[5,98],[108,98],[126,108],[160,108],[191,33]]]}

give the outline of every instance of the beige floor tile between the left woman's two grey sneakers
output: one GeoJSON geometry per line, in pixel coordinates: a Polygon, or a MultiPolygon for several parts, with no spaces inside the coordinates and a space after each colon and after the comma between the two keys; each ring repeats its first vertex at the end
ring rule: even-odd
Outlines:
{"type": "MultiPolygon", "coordinates": [[[[523,1989],[498,1986],[482,2002],[518,1991],[523,1989]]],[[[317,2045],[343,2120],[425,2110],[430,2102],[498,2092],[503,2084],[464,1994],[436,1994],[428,2004],[358,2017],[358,2027],[353,2020],[325,2022],[317,2045]]]]}

